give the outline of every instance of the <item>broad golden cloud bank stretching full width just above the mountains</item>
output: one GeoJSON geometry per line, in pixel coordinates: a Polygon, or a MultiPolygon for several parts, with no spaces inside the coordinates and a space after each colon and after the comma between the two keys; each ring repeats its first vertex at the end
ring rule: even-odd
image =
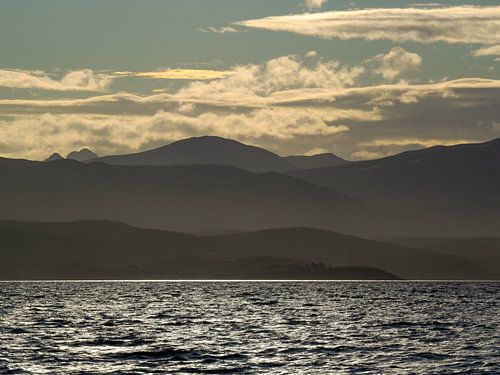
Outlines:
{"type": "Polygon", "coordinates": [[[0,99],[0,139],[9,140],[0,153],[42,159],[88,147],[112,154],[213,134],[287,155],[323,148],[362,158],[498,137],[500,80],[362,86],[363,67],[294,55],[229,72],[150,95],[0,99]]]}

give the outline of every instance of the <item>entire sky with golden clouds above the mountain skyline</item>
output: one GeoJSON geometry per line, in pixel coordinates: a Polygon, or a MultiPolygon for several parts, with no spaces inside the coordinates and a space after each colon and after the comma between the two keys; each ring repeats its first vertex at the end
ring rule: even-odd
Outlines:
{"type": "Polygon", "coordinates": [[[498,0],[0,2],[1,157],[200,135],[351,160],[499,138],[498,0]]]}

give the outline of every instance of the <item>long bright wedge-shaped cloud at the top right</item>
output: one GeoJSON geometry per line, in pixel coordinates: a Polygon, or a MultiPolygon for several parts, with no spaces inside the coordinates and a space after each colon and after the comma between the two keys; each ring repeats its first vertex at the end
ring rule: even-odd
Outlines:
{"type": "Polygon", "coordinates": [[[497,44],[500,6],[333,11],[265,17],[236,25],[326,39],[497,44]]]}

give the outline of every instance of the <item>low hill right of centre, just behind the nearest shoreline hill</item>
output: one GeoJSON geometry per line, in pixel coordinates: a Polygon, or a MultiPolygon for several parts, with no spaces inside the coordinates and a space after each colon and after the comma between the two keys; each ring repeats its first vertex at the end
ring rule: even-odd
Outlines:
{"type": "Polygon", "coordinates": [[[365,240],[310,228],[269,229],[206,237],[240,256],[286,257],[382,268],[411,279],[488,277],[479,265],[463,257],[434,253],[391,243],[365,240]]]}

